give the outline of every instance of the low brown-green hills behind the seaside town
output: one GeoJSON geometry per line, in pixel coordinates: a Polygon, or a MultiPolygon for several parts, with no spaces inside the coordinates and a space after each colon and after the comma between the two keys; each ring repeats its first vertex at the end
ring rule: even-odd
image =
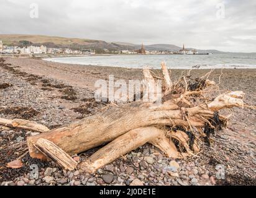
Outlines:
{"type": "MultiPolygon", "coordinates": [[[[102,40],[89,40],[81,38],[52,37],[43,35],[0,35],[0,40],[9,46],[45,45],[48,48],[71,48],[71,49],[96,49],[101,53],[104,49],[112,50],[135,50],[141,45],[126,42],[106,42],[102,40]]],[[[178,51],[181,47],[170,44],[145,45],[147,50],[178,51]]],[[[221,53],[217,50],[198,50],[199,53],[221,53]]]]}

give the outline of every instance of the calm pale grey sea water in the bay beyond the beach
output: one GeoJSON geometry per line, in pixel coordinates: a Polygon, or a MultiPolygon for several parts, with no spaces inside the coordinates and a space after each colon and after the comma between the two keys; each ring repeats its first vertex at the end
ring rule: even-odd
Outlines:
{"type": "Polygon", "coordinates": [[[219,68],[256,68],[256,53],[222,53],[209,55],[114,55],[114,56],[83,56],[66,58],[47,58],[47,61],[69,64],[84,64],[95,66],[113,66],[143,68],[150,66],[159,69],[162,61],[173,69],[219,68]]]}

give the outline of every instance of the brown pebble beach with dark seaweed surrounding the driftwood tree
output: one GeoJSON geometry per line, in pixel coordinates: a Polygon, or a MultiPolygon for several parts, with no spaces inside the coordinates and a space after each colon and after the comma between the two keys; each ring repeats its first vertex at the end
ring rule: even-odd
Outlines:
{"type": "MultiPolygon", "coordinates": [[[[173,80],[181,69],[171,71],[173,80]]],[[[187,71],[185,71],[187,72],[187,71]]],[[[191,71],[195,77],[207,69],[191,71]]],[[[62,64],[32,58],[1,58],[0,118],[29,119],[53,129],[91,116],[106,108],[93,101],[98,79],[142,79],[141,69],[62,64]]],[[[256,105],[256,69],[216,69],[209,77],[221,90],[242,90],[245,103],[256,105]],[[222,75],[221,75],[222,72],[222,75]]],[[[256,184],[256,112],[252,108],[234,108],[227,129],[215,134],[211,147],[202,145],[198,157],[174,160],[165,157],[153,145],[146,144],[104,166],[94,174],[62,170],[52,161],[32,159],[26,150],[26,138],[37,132],[0,126],[1,186],[188,186],[256,184]],[[21,158],[22,168],[6,167],[21,158]],[[31,176],[30,165],[37,165],[39,176],[31,176]],[[225,178],[219,178],[220,167],[225,178]],[[169,174],[168,170],[174,174],[169,174]]],[[[99,148],[72,156],[84,161],[99,148]]]]}

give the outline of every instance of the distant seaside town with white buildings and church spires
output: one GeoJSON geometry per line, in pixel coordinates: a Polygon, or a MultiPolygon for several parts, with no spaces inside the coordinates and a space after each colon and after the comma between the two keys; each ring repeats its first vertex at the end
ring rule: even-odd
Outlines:
{"type": "MultiPolygon", "coordinates": [[[[103,49],[101,54],[199,54],[196,49],[183,48],[177,51],[170,50],[146,50],[143,43],[140,49],[109,50],[103,49]]],[[[0,41],[0,54],[99,54],[96,49],[70,49],[70,48],[48,48],[44,45],[8,46],[0,41]]]]}

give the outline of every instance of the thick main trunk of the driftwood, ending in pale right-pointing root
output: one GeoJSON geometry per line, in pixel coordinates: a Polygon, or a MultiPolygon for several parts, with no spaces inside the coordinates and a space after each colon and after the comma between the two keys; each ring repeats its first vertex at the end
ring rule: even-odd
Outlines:
{"type": "Polygon", "coordinates": [[[84,152],[101,144],[111,142],[132,129],[145,126],[173,125],[203,127],[205,120],[213,118],[214,111],[231,106],[242,106],[243,92],[222,94],[207,105],[180,108],[167,101],[162,105],[134,102],[111,108],[89,118],[81,119],[65,127],[53,129],[37,136],[28,137],[30,156],[43,159],[45,156],[35,149],[38,139],[48,139],[69,155],[84,152]],[[190,117],[188,120],[185,115],[190,117]],[[200,119],[199,115],[204,119],[200,119]]]}

